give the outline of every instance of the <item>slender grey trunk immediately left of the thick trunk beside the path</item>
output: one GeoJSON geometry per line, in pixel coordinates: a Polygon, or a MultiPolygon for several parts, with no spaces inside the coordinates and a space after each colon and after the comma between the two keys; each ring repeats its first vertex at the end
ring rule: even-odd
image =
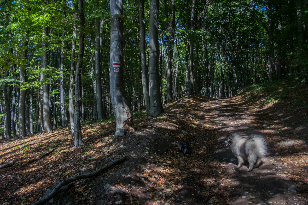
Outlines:
{"type": "Polygon", "coordinates": [[[139,0],[139,25],[140,25],[140,55],[142,70],[142,89],[146,111],[150,111],[149,82],[147,73],[147,60],[145,56],[145,29],[144,29],[144,0],[139,0]]]}

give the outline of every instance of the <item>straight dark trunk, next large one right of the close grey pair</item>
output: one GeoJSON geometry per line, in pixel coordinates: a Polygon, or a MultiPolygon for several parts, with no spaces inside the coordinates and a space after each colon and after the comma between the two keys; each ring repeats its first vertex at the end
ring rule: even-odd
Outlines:
{"type": "MultiPolygon", "coordinates": [[[[167,9],[167,8],[166,8],[167,9]]],[[[168,68],[167,68],[167,103],[173,101],[172,99],[172,61],[174,48],[174,32],[175,32],[175,1],[171,5],[171,20],[168,23],[168,68]]]]}

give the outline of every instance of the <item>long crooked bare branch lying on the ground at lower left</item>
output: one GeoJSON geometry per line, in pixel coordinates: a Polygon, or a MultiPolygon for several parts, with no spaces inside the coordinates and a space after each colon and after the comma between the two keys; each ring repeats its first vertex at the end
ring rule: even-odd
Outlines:
{"type": "Polygon", "coordinates": [[[124,155],[123,157],[112,161],[111,163],[107,164],[104,167],[101,167],[91,173],[86,173],[86,174],[80,174],[80,175],[76,175],[76,176],[72,176],[70,178],[67,178],[66,180],[63,180],[62,182],[60,182],[59,184],[57,184],[50,192],[49,195],[47,195],[46,197],[44,197],[43,199],[31,204],[31,205],[42,205],[44,203],[46,203],[47,201],[49,201],[50,199],[54,198],[55,195],[57,194],[57,192],[59,191],[59,189],[67,184],[70,184],[71,182],[75,181],[75,180],[79,180],[79,179],[87,179],[87,178],[91,178],[95,175],[100,174],[101,172],[109,169],[110,167],[112,167],[113,165],[125,160],[127,157],[127,155],[124,155]]]}

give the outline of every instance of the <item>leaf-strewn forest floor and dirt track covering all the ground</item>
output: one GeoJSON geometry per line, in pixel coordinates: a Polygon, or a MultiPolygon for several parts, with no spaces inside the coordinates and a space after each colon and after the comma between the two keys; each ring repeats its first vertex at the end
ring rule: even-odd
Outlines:
{"type": "Polygon", "coordinates": [[[84,123],[84,146],[77,148],[68,128],[2,140],[0,163],[14,165],[0,169],[0,204],[34,203],[59,181],[124,154],[122,163],[75,181],[48,204],[308,204],[307,105],[307,85],[282,81],[234,97],[187,96],[150,120],[136,112],[136,131],[114,143],[114,118],[84,123]],[[237,159],[224,144],[231,131],[265,137],[269,150],[259,168],[235,169],[237,159]],[[179,141],[191,142],[192,152],[179,153],[179,141]],[[292,185],[297,193],[288,190],[292,185]]]}

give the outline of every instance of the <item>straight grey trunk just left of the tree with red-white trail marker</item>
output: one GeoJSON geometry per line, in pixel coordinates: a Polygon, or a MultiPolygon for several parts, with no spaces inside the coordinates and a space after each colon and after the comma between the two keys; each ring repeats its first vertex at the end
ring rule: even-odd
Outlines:
{"type": "MultiPolygon", "coordinates": [[[[94,3],[94,11],[97,10],[98,0],[94,3]]],[[[99,119],[106,118],[103,111],[103,98],[102,98],[102,79],[101,79],[101,69],[100,69],[100,18],[95,18],[95,46],[94,46],[94,58],[95,58],[95,86],[96,86],[96,105],[97,105],[97,115],[99,119]]]]}

